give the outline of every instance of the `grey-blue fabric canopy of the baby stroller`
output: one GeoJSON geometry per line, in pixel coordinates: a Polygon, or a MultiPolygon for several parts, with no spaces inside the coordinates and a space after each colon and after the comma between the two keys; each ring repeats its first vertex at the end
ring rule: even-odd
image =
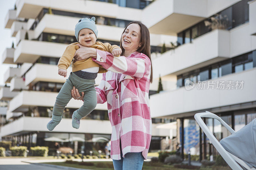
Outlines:
{"type": "Polygon", "coordinates": [[[220,144],[250,168],[256,167],[256,119],[232,135],[220,140],[220,144]]]}

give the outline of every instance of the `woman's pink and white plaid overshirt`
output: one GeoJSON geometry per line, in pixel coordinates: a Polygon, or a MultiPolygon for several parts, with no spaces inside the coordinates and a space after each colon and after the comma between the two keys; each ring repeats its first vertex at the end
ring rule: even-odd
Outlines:
{"type": "Polygon", "coordinates": [[[110,157],[121,159],[121,139],[123,157],[128,152],[142,152],[147,159],[152,134],[148,98],[151,63],[148,56],[134,52],[129,57],[115,57],[97,50],[97,59],[93,61],[109,70],[103,73],[96,93],[97,103],[107,101],[112,126],[110,157]]]}

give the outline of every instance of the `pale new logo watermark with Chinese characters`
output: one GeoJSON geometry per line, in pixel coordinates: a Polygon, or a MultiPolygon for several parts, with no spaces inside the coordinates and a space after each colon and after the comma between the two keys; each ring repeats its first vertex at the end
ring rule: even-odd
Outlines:
{"type": "MultiPolygon", "coordinates": [[[[191,90],[194,89],[195,83],[186,80],[185,82],[185,89],[186,90],[191,90]]],[[[218,90],[243,90],[244,88],[244,80],[217,80],[217,81],[198,81],[196,84],[196,89],[197,90],[208,90],[208,89],[218,89],[218,90]]]]}

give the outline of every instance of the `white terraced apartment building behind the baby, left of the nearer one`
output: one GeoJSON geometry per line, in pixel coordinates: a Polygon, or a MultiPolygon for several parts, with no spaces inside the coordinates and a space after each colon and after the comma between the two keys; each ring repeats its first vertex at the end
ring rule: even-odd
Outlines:
{"type": "MultiPolygon", "coordinates": [[[[66,80],[58,75],[57,63],[66,46],[76,42],[74,33],[78,20],[94,16],[99,30],[98,41],[119,45],[124,27],[130,21],[141,20],[143,9],[151,2],[104,1],[17,0],[15,8],[9,10],[4,26],[11,29],[16,48],[6,48],[1,62],[17,64],[17,67],[4,73],[4,82],[8,86],[0,89],[0,100],[8,100],[5,117],[9,121],[0,128],[0,137],[9,137],[13,145],[22,144],[28,148],[49,146],[49,155],[55,152],[55,141],[74,148],[75,153],[81,153],[84,148],[85,154],[92,150],[104,151],[112,130],[106,103],[98,104],[81,120],[80,128],[74,129],[71,116],[82,101],[72,99],[61,123],[52,132],[46,128],[56,96],[66,80]]],[[[170,35],[152,34],[152,52],[160,52],[162,44],[167,44],[170,38],[170,35]]],[[[96,85],[101,77],[99,74],[96,78],[96,85]]],[[[151,93],[155,93],[157,83],[156,80],[152,85],[151,93]]],[[[170,130],[156,128],[162,121],[170,122],[157,119],[155,122],[158,123],[153,123],[151,150],[159,150],[164,143],[168,144],[166,137],[170,136],[170,130]]]]}

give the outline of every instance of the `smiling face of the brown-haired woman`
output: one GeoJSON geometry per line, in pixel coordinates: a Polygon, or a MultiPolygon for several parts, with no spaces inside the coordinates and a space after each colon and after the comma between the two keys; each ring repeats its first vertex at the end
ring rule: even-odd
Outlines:
{"type": "Polygon", "coordinates": [[[140,46],[140,26],[138,24],[130,24],[122,34],[122,47],[125,51],[135,52],[140,46]]]}

